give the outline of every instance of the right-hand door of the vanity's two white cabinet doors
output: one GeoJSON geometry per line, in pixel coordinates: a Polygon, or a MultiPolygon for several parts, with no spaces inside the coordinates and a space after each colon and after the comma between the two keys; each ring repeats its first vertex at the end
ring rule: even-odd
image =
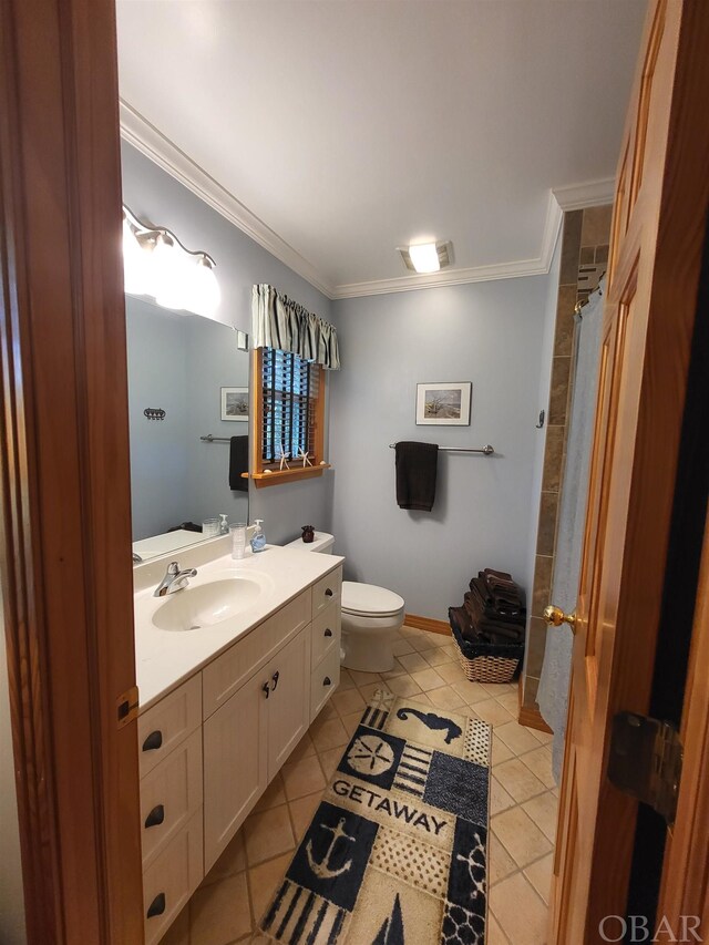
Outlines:
{"type": "Polygon", "coordinates": [[[276,775],[310,723],[310,628],[306,627],[268,665],[268,780],[276,775]]]}

